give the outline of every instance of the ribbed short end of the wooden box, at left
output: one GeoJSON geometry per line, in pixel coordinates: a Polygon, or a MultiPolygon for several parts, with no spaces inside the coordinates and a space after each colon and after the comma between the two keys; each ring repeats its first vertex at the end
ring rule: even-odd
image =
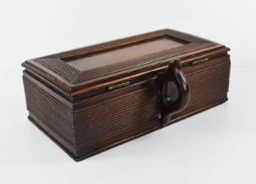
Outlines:
{"type": "Polygon", "coordinates": [[[75,146],[73,113],[32,81],[23,77],[27,110],[54,133],[75,146]]]}

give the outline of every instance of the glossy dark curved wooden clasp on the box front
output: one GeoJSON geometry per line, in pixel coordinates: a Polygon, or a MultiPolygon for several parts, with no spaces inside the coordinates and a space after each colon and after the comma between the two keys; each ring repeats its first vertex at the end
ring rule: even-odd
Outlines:
{"type": "Polygon", "coordinates": [[[187,106],[189,101],[190,92],[188,80],[182,72],[181,60],[175,59],[170,62],[161,94],[161,117],[162,125],[165,126],[169,123],[174,114],[180,112],[187,106]],[[178,97],[175,100],[172,100],[171,96],[173,96],[173,94],[169,94],[170,90],[168,90],[171,83],[174,83],[178,89],[178,97]]]}

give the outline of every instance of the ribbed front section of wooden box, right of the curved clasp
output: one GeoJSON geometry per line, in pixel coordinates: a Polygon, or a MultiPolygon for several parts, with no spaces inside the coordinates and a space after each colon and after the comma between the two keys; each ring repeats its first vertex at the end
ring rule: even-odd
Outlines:
{"type": "MultiPolygon", "coordinates": [[[[227,100],[231,61],[229,55],[183,69],[190,86],[188,106],[175,117],[188,117],[227,100]]],[[[174,117],[174,118],[175,118],[174,117]]]]}

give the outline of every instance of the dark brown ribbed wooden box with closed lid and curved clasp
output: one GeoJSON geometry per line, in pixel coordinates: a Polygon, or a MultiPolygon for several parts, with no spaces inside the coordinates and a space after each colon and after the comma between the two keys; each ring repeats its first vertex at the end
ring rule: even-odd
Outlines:
{"type": "Polygon", "coordinates": [[[75,160],[227,100],[229,48],[174,30],[26,60],[29,119],[75,160]]]}

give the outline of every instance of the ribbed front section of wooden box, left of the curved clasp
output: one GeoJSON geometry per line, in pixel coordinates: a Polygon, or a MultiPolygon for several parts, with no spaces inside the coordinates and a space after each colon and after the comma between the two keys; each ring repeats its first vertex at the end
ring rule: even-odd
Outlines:
{"type": "Polygon", "coordinates": [[[156,84],[146,85],[75,112],[79,153],[93,152],[160,126],[158,88],[156,84]]]}

